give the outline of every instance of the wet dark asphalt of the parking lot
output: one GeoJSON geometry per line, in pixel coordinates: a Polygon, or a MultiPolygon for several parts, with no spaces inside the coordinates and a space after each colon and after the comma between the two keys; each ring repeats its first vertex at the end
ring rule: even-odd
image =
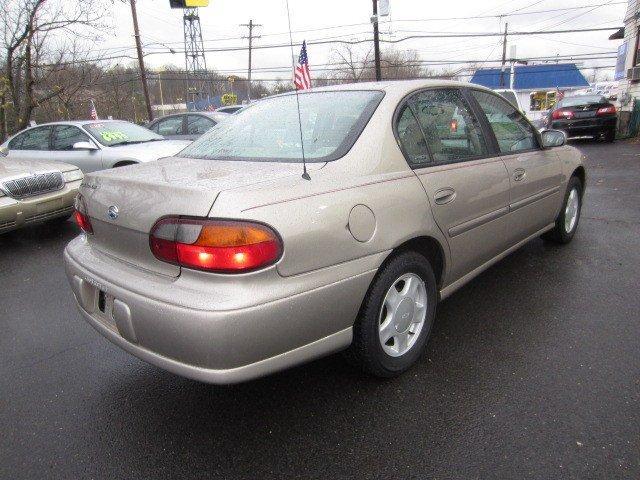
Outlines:
{"type": "Polygon", "coordinates": [[[1,236],[0,478],[639,478],[640,145],[576,146],[574,241],[532,241],[447,299],[387,381],[340,356],[176,377],[81,320],[71,222],[1,236]]]}

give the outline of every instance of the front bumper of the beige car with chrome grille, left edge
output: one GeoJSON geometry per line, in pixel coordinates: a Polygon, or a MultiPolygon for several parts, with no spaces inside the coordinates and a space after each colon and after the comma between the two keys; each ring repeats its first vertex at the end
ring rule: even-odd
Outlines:
{"type": "Polygon", "coordinates": [[[61,190],[22,200],[0,197],[0,233],[71,215],[80,183],[70,182],[61,190]]]}

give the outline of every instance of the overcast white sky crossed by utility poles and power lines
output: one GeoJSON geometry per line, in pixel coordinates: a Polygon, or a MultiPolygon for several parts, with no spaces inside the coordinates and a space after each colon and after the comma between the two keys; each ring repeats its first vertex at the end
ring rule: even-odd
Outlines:
{"type": "MultiPolygon", "coordinates": [[[[538,31],[575,28],[598,28],[622,26],[626,2],[607,0],[457,0],[434,2],[427,0],[390,0],[391,16],[381,24],[383,39],[397,40],[409,35],[439,34],[454,32],[499,32],[504,23],[510,31],[538,31]],[[596,7],[596,5],[606,4],[596,7]],[[578,8],[591,6],[589,8],[578,8]],[[566,9],[549,12],[552,9],[566,9]],[[545,11],[526,14],[527,12],[545,11]],[[500,14],[517,15],[500,18],[478,18],[500,14]],[[437,20],[451,17],[474,17],[472,19],[437,20]]],[[[294,43],[325,39],[371,38],[370,0],[289,0],[291,27],[294,43]]],[[[182,12],[169,8],[169,0],[138,0],[140,33],[144,44],[146,62],[150,69],[173,64],[184,67],[182,12]],[[177,50],[168,53],[169,48],[177,50]],[[165,53],[160,53],[165,52],[165,53]]],[[[100,45],[110,55],[130,55],[134,58],[134,39],[131,13],[127,3],[115,2],[113,36],[106,37],[100,45]]],[[[252,19],[263,26],[256,29],[262,35],[255,46],[288,43],[288,25],[285,0],[210,0],[209,7],[200,9],[200,18],[205,49],[246,46],[241,37],[247,29],[240,27],[252,19]]],[[[516,56],[591,54],[603,56],[615,52],[620,40],[608,40],[611,31],[573,33],[562,35],[532,35],[510,37],[508,44],[516,45],[516,56]]],[[[382,44],[382,49],[396,48],[415,50],[424,61],[495,60],[501,56],[501,39],[445,38],[413,39],[398,43],[395,47],[382,44]]],[[[309,65],[319,73],[335,54],[336,45],[309,45],[309,65]]],[[[362,45],[366,50],[369,45],[362,45]]],[[[296,46],[295,54],[299,52],[296,46]]],[[[225,74],[246,75],[247,52],[208,52],[207,66],[225,74]]],[[[253,54],[255,79],[290,78],[288,65],[291,53],[287,48],[256,49],[253,54]],[[270,71],[280,68],[280,71],[270,71]]],[[[129,64],[131,61],[119,61],[129,64]]],[[[582,61],[584,66],[614,65],[615,59],[582,61]]],[[[451,68],[459,66],[450,65],[451,68]]],[[[330,67],[329,67],[330,68],[330,67]]],[[[437,67],[441,68],[441,67],[437,67]]],[[[613,70],[613,69],[612,69],[613,70]]],[[[600,70],[602,71],[602,70],[600,70]]],[[[330,71],[325,71],[330,73],[330,71]]]]}

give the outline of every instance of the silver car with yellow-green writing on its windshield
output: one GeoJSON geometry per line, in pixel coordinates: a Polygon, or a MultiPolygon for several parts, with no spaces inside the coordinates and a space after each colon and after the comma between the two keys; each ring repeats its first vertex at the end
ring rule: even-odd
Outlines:
{"type": "Polygon", "coordinates": [[[9,158],[70,163],[88,173],[169,157],[189,143],[122,120],[86,120],[27,128],[2,148],[9,158]]]}

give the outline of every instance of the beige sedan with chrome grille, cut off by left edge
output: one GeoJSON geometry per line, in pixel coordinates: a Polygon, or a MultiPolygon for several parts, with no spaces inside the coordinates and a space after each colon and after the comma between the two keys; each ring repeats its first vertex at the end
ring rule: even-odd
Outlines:
{"type": "Polygon", "coordinates": [[[74,165],[14,160],[0,150],[0,233],[69,218],[82,178],[74,165]]]}

